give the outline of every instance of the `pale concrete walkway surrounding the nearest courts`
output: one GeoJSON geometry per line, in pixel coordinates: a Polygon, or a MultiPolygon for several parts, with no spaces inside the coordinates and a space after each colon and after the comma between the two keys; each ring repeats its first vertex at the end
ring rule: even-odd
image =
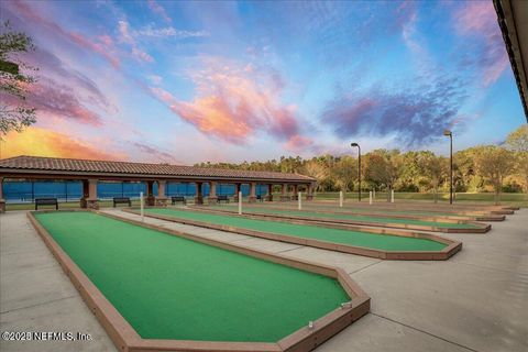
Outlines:
{"type": "MultiPolygon", "coordinates": [[[[528,351],[528,209],[493,223],[485,234],[442,234],[464,242],[447,262],[380,261],[145,221],[344,268],[372,297],[372,310],[317,351],[528,351]]],[[[79,331],[94,338],[0,341],[1,351],[116,351],[24,212],[0,216],[0,250],[1,331],[79,331]]]]}

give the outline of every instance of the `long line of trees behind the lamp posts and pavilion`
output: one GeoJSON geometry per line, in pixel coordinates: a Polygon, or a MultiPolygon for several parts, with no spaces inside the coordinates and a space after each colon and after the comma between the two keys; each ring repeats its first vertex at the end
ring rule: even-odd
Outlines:
{"type": "MultiPolygon", "coordinates": [[[[375,150],[361,158],[362,190],[449,191],[449,156],[430,151],[375,150]]],[[[358,190],[358,158],[320,155],[305,160],[282,156],[266,162],[200,163],[195,166],[297,173],[317,179],[318,191],[358,190]]],[[[502,145],[479,145],[453,154],[453,189],[458,193],[528,193],[528,125],[512,132],[502,145]]]]}

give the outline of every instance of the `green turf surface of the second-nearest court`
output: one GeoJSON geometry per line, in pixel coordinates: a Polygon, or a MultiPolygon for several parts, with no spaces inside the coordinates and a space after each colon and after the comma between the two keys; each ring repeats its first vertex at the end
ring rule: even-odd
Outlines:
{"type": "Polygon", "coordinates": [[[148,208],[145,209],[145,212],[384,251],[441,251],[447,246],[444,243],[426,239],[328,229],[271,220],[254,220],[235,215],[224,216],[175,208],[148,208]]]}

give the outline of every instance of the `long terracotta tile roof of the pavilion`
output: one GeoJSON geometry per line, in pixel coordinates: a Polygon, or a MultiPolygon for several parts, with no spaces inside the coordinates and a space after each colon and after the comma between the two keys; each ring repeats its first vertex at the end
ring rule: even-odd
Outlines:
{"type": "Polygon", "coordinates": [[[2,170],[42,170],[64,173],[94,173],[123,174],[123,176],[167,176],[189,178],[233,178],[240,180],[283,180],[283,182],[315,182],[314,178],[298,174],[283,174],[272,172],[251,172],[240,169],[208,168],[168,164],[145,164],[128,162],[90,161],[41,156],[15,156],[0,160],[0,175],[2,170]]]}

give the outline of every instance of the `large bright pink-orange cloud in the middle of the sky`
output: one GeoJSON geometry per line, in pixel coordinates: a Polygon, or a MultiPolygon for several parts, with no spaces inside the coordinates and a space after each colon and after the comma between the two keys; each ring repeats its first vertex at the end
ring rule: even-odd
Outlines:
{"type": "Polygon", "coordinates": [[[170,92],[151,87],[151,94],[205,134],[231,143],[246,143],[260,132],[297,145],[301,127],[296,108],[280,101],[284,80],[277,73],[205,59],[206,67],[190,73],[197,97],[180,101],[170,92]]]}

